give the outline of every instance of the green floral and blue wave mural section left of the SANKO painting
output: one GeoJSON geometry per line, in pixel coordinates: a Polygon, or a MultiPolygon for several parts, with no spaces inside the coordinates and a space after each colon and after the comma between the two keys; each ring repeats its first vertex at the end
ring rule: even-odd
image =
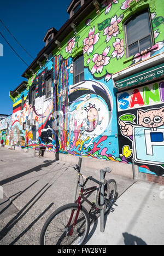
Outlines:
{"type": "MultiPolygon", "coordinates": [[[[58,104],[58,120],[54,117],[54,122],[61,125],[60,131],[56,133],[58,149],[61,153],[130,164],[132,162],[132,143],[124,144],[121,153],[117,149],[118,136],[116,133],[118,131],[114,124],[118,121],[112,73],[121,70],[122,67],[126,68],[140,60],[145,60],[164,49],[163,34],[161,33],[163,18],[160,16],[161,10],[159,10],[159,16],[156,13],[151,13],[155,45],[134,55],[130,61],[125,63],[124,33],[121,21],[124,18],[124,10],[128,9],[132,2],[113,0],[108,4],[107,1],[104,1],[102,12],[96,21],[92,21],[95,14],[91,14],[81,23],[81,27],[84,27],[83,32],[77,36],[69,36],[61,55],[56,56],[65,61],[69,60],[71,67],[69,72],[72,73],[71,57],[78,52],[79,48],[81,49],[81,45],[83,46],[85,81],[72,85],[71,79],[69,79],[69,84],[67,82],[67,86],[65,86],[66,83],[61,81],[66,77],[67,66],[60,75],[60,82],[56,84],[58,94],[55,97],[59,96],[57,99],[60,103],[58,104]]],[[[139,0],[136,3],[139,3],[139,0]]],[[[54,66],[56,63],[60,63],[60,61],[54,61],[54,66]]],[[[57,65],[55,70],[56,67],[57,65]]],[[[55,72],[57,77],[57,71],[55,72]]],[[[137,113],[134,118],[137,119],[137,113]]],[[[120,124],[118,126],[120,127],[120,124]]],[[[122,137],[120,132],[119,136],[122,137]]],[[[140,171],[143,171],[143,168],[140,171]]],[[[150,173],[152,172],[150,171],[150,173]]],[[[156,173],[161,174],[162,172],[156,173]]]]}

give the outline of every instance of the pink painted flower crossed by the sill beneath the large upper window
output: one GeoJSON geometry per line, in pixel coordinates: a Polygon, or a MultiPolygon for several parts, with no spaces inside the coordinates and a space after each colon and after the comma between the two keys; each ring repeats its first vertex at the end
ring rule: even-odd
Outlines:
{"type": "Polygon", "coordinates": [[[137,53],[133,57],[134,62],[137,63],[138,61],[144,61],[146,59],[149,59],[155,51],[161,50],[163,46],[164,46],[163,42],[159,42],[153,45],[151,48],[145,49],[140,53],[137,53]]]}

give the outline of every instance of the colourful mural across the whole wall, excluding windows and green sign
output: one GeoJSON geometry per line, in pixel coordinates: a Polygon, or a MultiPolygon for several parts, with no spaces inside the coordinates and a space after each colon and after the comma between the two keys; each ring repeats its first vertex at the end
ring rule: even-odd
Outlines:
{"type": "Polygon", "coordinates": [[[51,59],[28,79],[27,89],[14,102],[11,144],[125,164],[134,158],[140,172],[164,175],[163,81],[118,92],[112,80],[112,74],[164,50],[164,2],[105,0],[99,8],[100,14],[93,9],[77,33],[66,35],[51,59]],[[148,7],[154,45],[127,58],[124,22],[148,7]],[[84,80],[74,84],[73,60],[79,54],[84,55],[84,80]],[[49,76],[52,95],[47,99],[49,76]]]}

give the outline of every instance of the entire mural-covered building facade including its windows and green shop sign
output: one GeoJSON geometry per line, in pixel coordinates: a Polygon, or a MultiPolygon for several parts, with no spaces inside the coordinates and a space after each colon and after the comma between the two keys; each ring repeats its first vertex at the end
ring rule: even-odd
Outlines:
{"type": "Polygon", "coordinates": [[[164,2],[72,1],[10,92],[11,143],[164,176],[164,2]],[[119,165],[120,166],[120,165],[119,165]]]}

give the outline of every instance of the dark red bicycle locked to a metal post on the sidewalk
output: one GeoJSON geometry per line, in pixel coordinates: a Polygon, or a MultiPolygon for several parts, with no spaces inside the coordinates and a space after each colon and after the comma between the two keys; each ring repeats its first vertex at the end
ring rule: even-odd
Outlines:
{"type": "MultiPolygon", "coordinates": [[[[81,188],[78,199],[75,203],[68,203],[58,208],[46,220],[40,234],[40,245],[83,245],[89,234],[90,217],[86,208],[81,205],[81,199],[89,203],[95,210],[99,211],[104,207],[104,214],[109,211],[115,202],[116,182],[114,179],[109,179],[109,181],[104,179],[103,182],[99,182],[92,176],[86,178],[81,174],[79,165],[76,165],[74,169],[78,172],[78,185],[81,188]],[[80,183],[80,176],[83,178],[83,184],[80,183]],[[99,186],[85,188],[89,180],[99,186]],[[104,184],[104,205],[100,203],[102,184],[104,184]],[[93,191],[96,191],[95,202],[90,202],[85,196],[93,191]]],[[[106,172],[112,170],[106,167],[103,171],[105,178],[106,172]]]]}

